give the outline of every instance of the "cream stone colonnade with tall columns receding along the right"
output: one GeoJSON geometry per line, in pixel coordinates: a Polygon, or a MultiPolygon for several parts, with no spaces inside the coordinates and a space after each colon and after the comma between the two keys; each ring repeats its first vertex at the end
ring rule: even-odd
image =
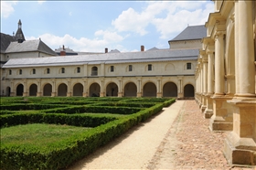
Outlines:
{"type": "Polygon", "coordinates": [[[256,3],[215,0],[197,58],[196,100],[213,132],[229,131],[232,165],[256,165],[256,3]]]}

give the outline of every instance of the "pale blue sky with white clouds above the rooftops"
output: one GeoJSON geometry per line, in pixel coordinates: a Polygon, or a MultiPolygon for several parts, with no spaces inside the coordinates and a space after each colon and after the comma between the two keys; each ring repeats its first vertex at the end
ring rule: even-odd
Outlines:
{"type": "Polygon", "coordinates": [[[1,33],[12,35],[21,19],[27,40],[50,48],[121,52],[169,48],[188,25],[204,25],[211,1],[2,1],[1,33]]]}

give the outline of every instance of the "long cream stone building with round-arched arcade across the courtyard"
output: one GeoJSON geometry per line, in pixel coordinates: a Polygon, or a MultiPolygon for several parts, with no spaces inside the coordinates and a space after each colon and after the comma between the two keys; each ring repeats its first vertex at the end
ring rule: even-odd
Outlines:
{"type": "MultiPolygon", "coordinates": [[[[105,48],[105,53],[54,57],[19,51],[2,67],[1,91],[5,96],[194,98],[195,67],[200,39],[205,36],[206,28],[195,26],[170,40],[171,48],[166,49],[144,51],[141,46],[138,52],[108,52],[105,48]]],[[[16,44],[18,50],[26,43],[10,46],[16,44]]]]}

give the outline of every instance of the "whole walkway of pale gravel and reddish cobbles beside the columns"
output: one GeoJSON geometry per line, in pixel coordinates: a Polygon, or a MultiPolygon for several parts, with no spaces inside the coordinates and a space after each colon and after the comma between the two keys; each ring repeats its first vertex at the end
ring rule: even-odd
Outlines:
{"type": "Polygon", "coordinates": [[[176,101],[68,169],[252,169],[227,163],[226,135],[208,130],[196,101],[176,101]]]}

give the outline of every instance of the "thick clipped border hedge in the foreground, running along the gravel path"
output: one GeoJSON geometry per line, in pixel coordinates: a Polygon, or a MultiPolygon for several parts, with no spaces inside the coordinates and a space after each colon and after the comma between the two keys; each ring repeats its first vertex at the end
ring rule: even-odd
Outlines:
{"type": "Polygon", "coordinates": [[[46,169],[56,170],[67,167],[76,160],[91,154],[101,145],[125,133],[134,125],[143,122],[151,115],[161,111],[163,104],[129,115],[123,119],[108,122],[93,128],[81,136],[71,136],[65,142],[54,143],[53,147],[38,151],[16,146],[1,149],[1,169],[46,169]]]}

